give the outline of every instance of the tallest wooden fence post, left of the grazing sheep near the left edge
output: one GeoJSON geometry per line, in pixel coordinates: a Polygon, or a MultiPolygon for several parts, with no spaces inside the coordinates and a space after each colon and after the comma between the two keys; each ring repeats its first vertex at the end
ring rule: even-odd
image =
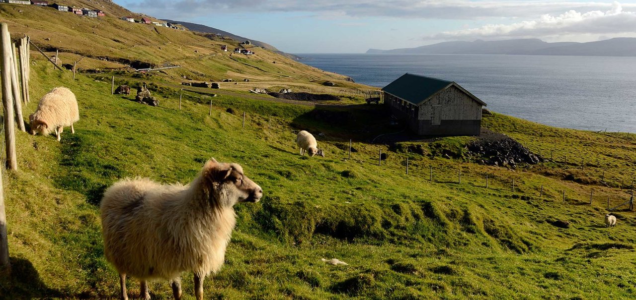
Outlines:
{"type": "Polygon", "coordinates": [[[2,43],[2,60],[1,60],[1,78],[2,78],[2,98],[4,107],[4,139],[6,141],[6,166],[8,169],[17,170],[18,160],[15,154],[15,126],[13,120],[15,113],[13,112],[13,95],[11,95],[11,36],[9,35],[9,27],[6,23],[0,25],[1,43],[2,43]]]}

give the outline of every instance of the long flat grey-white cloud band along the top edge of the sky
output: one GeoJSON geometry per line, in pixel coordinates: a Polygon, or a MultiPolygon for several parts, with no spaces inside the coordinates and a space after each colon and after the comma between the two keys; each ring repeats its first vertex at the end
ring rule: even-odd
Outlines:
{"type": "MultiPolygon", "coordinates": [[[[536,17],[565,10],[607,10],[611,3],[521,0],[117,0],[150,15],[177,17],[214,13],[311,12],[354,17],[478,19],[536,17]]],[[[636,4],[625,4],[636,7],[636,4]]]]}

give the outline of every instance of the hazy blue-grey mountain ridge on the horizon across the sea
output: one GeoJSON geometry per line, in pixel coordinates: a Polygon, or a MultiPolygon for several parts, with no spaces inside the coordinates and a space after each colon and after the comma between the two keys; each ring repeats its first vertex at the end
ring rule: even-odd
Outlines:
{"type": "Polygon", "coordinates": [[[595,42],[544,42],[540,39],[439,42],[417,48],[368,49],[368,54],[508,54],[636,56],[635,37],[615,37],[595,42]]]}

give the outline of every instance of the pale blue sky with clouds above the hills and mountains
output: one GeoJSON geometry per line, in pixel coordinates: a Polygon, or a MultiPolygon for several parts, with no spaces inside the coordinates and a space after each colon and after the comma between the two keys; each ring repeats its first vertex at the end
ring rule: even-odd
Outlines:
{"type": "Polygon", "coordinates": [[[636,37],[636,1],[114,0],[137,13],[200,23],[288,53],[361,53],[442,41],[636,37]]]}

